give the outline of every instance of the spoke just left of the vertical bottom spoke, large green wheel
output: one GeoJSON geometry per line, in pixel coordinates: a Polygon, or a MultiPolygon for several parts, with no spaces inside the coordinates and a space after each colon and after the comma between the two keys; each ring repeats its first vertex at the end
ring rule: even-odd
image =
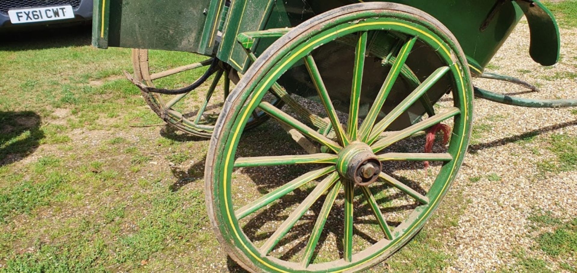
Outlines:
{"type": "Polygon", "coordinates": [[[341,186],[341,182],[336,182],[323,203],[323,208],[321,208],[321,211],[319,212],[319,217],[317,217],[317,221],[314,223],[313,231],[310,233],[309,242],[305,247],[305,254],[302,257],[301,262],[302,267],[308,267],[310,264],[310,259],[313,257],[314,249],[319,243],[319,238],[321,233],[323,233],[324,225],[327,223],[328,214],[331,212],[332,205],[335,203],[335,199],[339,195],[341,186]]]}

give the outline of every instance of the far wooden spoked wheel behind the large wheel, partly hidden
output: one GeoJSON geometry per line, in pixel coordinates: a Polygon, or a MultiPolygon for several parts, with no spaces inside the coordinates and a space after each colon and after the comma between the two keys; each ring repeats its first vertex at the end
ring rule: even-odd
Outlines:
{"type": "MultiPolygon", "coordinates": [[[[205,61],[190,63],[168,70],[156,69],[159,71],[151,73],[151,65],[162,65],[162,63],[158,63],[159,60],[152,60],[151,63],[151,58],[152,56],[149,55],[146,49],[133,48],[132,50],[134,76],[136,80],[149,87],[156,87],[155,83],[162,78],[174,77],[182,73],[197,72],[194,74],[197,74],[196,77],[200,77],[214,60],[207,57],[205,61]]],[[[186,82],[192,83],[196,80],[196,77],[188,78],[186,82]]],[[[222,65],[219,66],[211,78],[208,78],[206,83],[188,93],[162,95],[143,91],[142,95],[151,109],[167,124],[194,136],[211,137],[224,100],[230,93],[231,78],[238,78],[238,75],[230,68],[227,68],[226,65],[222,65]],[[229,77],[230,73],[234,73],[234,75],[229,77]],[[219,92],[220,88],[222,88],[223,92],[219,92]]],[[[280,99],[276,98],[273,98],[270,102],[277,106],[282,103],[280,99]]],[[[257,111],[251,116],[247,128],[257,126],[267,118],[267,115],[257,111]]]]}

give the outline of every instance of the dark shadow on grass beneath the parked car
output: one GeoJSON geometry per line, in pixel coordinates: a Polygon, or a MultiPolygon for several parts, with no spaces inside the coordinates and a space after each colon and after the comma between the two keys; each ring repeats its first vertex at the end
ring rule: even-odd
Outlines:
{"type": "Polygon", "coordinates": [[[89,46],[90,24],[8,29],[0,32],[0,51],[89,46]]]}

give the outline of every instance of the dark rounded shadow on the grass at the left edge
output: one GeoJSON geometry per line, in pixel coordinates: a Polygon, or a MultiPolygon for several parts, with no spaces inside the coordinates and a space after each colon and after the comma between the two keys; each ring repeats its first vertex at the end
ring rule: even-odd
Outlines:
{"type": "Polygon", "coordinates": [[[0,111],[0,167],[31,155],[44,138],[42,119],[32,111],[0,111]]]}

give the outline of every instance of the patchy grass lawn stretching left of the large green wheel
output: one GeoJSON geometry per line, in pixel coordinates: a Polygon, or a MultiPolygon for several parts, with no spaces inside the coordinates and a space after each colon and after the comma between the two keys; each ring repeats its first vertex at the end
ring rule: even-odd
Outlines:
{"type": "MultiPolygon", "coordinates": [[[[130,50],[93,48],[85,28],[36,34],[0,47],[0,271],[241,271],[208,222],[208,140],[156,126],[119,76],[132,70],[130,50]]],[[[203,59],[151,54],[159,70],[203,59]]],[[[452,255],[438,238],[457,216],[437,216],[388,264],[445,267],[452,255]]]]}

